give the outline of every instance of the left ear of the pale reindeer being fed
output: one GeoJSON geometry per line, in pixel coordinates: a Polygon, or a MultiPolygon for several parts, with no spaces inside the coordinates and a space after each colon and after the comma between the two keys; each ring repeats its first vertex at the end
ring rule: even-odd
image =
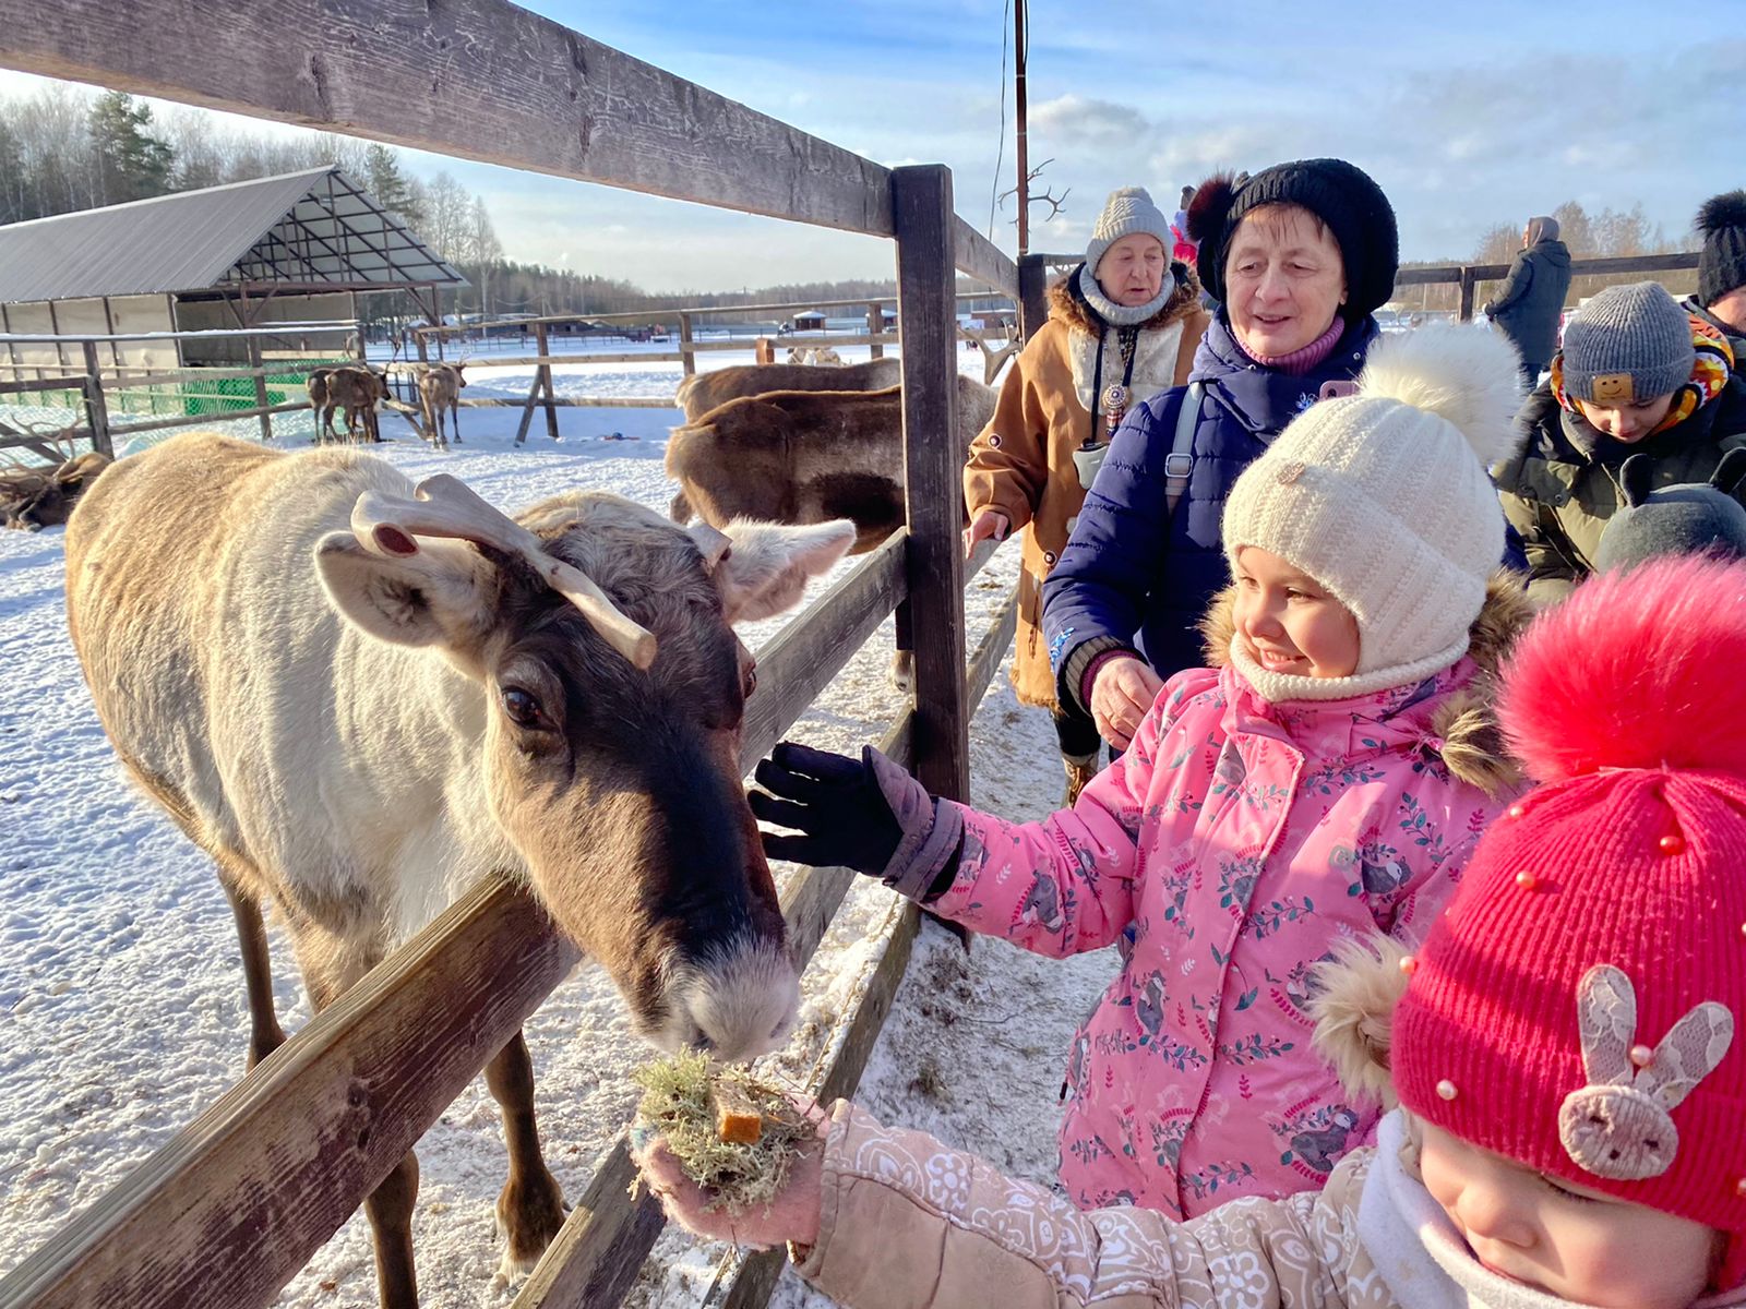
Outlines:
{"type": "Polygon", "coordinates": [[[412,553],[368,550],[351,532],[316,543],[316,574],[349,623],[395,646],[470,646],[489,627],[498,572],[457,541],[405,538],[412,553]]]}

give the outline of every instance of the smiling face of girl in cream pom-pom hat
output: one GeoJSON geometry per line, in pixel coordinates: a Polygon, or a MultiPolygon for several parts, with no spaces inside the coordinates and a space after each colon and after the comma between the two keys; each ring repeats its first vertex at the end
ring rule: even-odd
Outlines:
{"type": "Polygon", "coordinates": [[[1350,677],[1358,620],[1303,569],[1259,546],[1236,552],[1236,634],[1268,672],[1350,677]]]}

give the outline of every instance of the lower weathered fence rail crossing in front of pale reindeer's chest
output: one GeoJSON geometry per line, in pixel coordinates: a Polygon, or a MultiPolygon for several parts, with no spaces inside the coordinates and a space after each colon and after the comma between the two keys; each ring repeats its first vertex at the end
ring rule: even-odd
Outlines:
{"type": "Polygon", "coordinates": [[[482,880],[19,1264],[0,1306],[269,1304],[578,958],[531,895],[482,880]]]}

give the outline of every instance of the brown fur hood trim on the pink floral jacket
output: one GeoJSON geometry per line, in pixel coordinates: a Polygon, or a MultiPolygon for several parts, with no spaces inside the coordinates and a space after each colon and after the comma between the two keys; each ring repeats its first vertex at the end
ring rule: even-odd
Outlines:
{"type": "MultiPolygon", "coordinates": [[[[1222,668],[1231,661],[1234,600],[1236,586],[1226,586],[1201,620],[1210,668],[1222,668]]],[[[1531,618],[1533,606],[1523,583],[1510,572],[1493,572],[1479,618],[1468,628],[1467,658],[1479,665],[1479,675],[1439,705],[1432,719],[1432,731],[1442,742],[1444,764],[1488,796],[1498,796],[1521,780],[1521,766],[1510,757],[1498,728],[1495,700],[1503,660],[1531,618]]]]}

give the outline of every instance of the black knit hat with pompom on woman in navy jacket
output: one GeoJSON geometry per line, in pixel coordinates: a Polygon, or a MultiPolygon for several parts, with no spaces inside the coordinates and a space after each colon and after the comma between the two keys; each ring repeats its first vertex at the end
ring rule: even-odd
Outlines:
{"type": "Polygon", "coordinates": [[[1200,241],[1196,271],[1215,300],[1224,300],[1224,257],[1243,215],[1262,204],[1301,204],[1327,223],[1346,265],[1341,316],[1357,323],[1395,290],[1400,236],[1381,187],[1344,159],[1299,159],[1252,178],[1213,176],[1189,202],[1189,236],[1200,241]]]}

